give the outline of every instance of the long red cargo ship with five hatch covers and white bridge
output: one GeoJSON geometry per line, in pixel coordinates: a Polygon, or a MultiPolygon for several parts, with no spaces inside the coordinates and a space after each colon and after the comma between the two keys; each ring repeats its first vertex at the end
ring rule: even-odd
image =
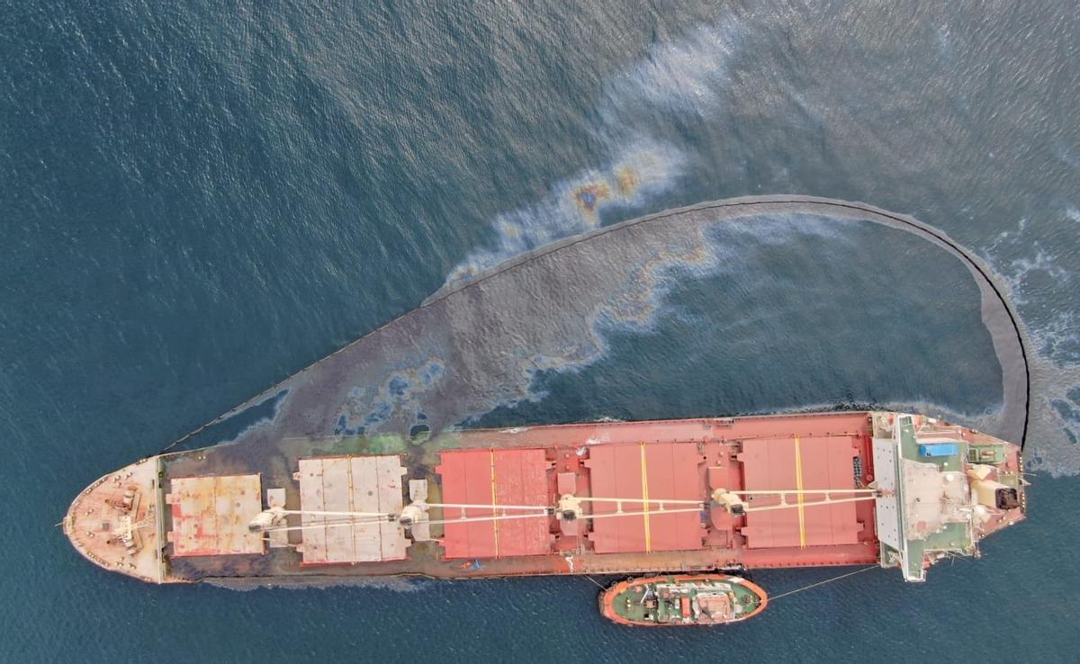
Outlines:
{"type": "MultiPolygon", "coordinates": [[[[298,437],[143,459],[64,531],[150,583],[657,575],[872,565],[923,581],[1025,516],[1016,445],[820,412],[298,437]]],[[[762,598],[764,602],[764,598],[762,598]]]]}

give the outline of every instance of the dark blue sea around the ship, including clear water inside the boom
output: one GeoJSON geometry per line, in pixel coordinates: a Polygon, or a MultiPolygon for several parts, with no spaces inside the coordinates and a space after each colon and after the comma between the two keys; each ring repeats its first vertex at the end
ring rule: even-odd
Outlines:
{"type": "MultiPolygon", "coordinates": [[[[1078,108],[1065,0],[0,0],[0,660],[1076,661],[1078,108]],[[931,223],[1015,303],[1030,512],[981,559],[640,632],[603,621],[583,578],[158,587],[55,527],[90,482],[448,280],[767,193],[931,223]]],[[[757,230],[715,236],[724,270],[588,362],[534,360],[485,421],[1000,406],[962,270],[887,230],[757,230]]]]}

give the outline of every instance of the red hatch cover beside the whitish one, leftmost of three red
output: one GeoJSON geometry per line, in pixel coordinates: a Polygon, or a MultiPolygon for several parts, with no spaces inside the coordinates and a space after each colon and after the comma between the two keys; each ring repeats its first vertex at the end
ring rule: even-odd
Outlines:
{"type": "MultiPolygon", "coordinates": [[[[548,492],[551,463],[543,449],[461,449],[441,452],[444,503],[538,505],[554,503],[548,492]]],[[[491,516],[490,507],[446,507],[444,518],[491,516]]],[[[510,513],[514,514],[514,513],[510,513]]],[[[518,512],[519,514],[519,512],[518,512]]],[[[513,518],[446,524],[447,558],[497,558],[549,553],[546,518],[513,518]]]]}

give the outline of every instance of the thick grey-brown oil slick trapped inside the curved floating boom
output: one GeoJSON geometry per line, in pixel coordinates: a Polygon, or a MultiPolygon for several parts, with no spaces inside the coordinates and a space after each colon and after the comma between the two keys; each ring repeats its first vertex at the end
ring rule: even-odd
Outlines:
{"type": "MultiPolygon", "coordinates": [[[[446,432],[455,425],[542,398],[539,376],[595,365],[610,352],[613,334],[650,334],[661,317],[678,314],[667,301],[675,286],[725,273],[742,279],[744,263],[732,259],[730,252],[739,250],[732,238],[753,239],[762,250],[771,244],[801,246],[816,238],[842,255],[855,255],[843,250],[842,227],[890,226],[890,219],[869,208],[821,199],[741,199],[599,228],[572,242],[541,247],[488,271],[482,281],[445,292],[273,388],[273,394],[289,390],[288,397],[272,421],[239,436],[235,453],[251,449],[265,456],[279,449],[284,463],[289,439],[312,436],[338,442],[329,441],[327,449],[360,445],[359,437],[380,449],[405,449],[418,425],[431,432],[427,453],[428,448],[453,444],[446,432]],[[726,229],[727,240],[717,229],[726,229]],[[382,436],[392,441],[378,442],[382,436]]],[[[824,256],[822,261],[835,262],[824,256]]],[[[702,307],[718,307],[710,303],[715,296],[708,288],[703,293],[707,297],[702,307]]],[[[977,316],[977,303],[971,306],[977,316]]],[[[717,351],[712,348],[715,339],[691,339],[690,345],[694,343],[710,348],[662,347],[652,361],[670,364],[717,351]]],[[[996,350],[973,345],[978,347],[976,353],[996,350]]],[[[1016,365],[1005,357],[1002,366],[1016,365]]],[[[669,374],[662,378],[680,382],[679,376],[669,374]]],[[[1014,392],[1005,392],[1015,401],[1014,392]]],[[[1010,425],[1003,421],[1012,412],[1005,405],[985,417],[975,414],[980,423],[988,424],[985,430],[1010,425]]],[[[970,414],[962,419],[975,423],[970,414]]]]}

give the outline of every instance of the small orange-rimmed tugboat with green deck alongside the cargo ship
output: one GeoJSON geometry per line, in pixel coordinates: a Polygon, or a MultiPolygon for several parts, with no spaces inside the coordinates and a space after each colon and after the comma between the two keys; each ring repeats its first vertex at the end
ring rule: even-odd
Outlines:
{"type": "Polygon", "coordinates": [[[600,594],[600,612],[620,625],[726,625],[753,618],[769,604],[741,577],[678,574],[621,581],[600,594]]]}

